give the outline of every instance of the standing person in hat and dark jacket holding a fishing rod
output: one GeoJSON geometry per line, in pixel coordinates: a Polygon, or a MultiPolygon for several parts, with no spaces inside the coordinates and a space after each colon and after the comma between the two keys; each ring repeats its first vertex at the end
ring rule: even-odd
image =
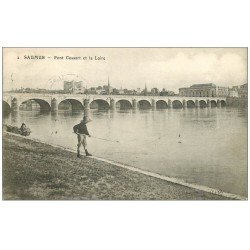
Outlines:
{"type": "Polygon", "coordinates": [[[86,136],[90,136],[86,124],[91,120],[84,116],[83,120],[73,127],[74,133],[77,134],[78,144],[77,144],[77,157],[80,158],[80,147],[83,145],[86,156],[92,156],[87,150],[87,139],[86,136]]]}

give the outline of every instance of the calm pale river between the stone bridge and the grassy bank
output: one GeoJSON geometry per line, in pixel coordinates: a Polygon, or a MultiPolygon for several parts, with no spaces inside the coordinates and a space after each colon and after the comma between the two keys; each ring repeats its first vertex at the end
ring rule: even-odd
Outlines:
{"type": "MultiPolygon", "coordinates": [[[[247,197],[246,110],[91,110],[90,115],[88,130],[93,136],[119,141],[88,138],[90,153],[247,197]]],[[[72,131],[82,116],[83,112],[19,111],[3,122],[19,127],[25,122],[31,137],[76,150],[72,131]]]]}

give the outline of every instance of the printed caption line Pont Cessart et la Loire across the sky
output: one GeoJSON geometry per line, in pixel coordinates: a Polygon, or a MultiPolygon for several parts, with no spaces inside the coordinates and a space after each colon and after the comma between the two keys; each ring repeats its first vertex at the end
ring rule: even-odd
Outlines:
{"type": "MultiPolygon", "coordinates": [[[[20,59],[17,57],[17,59],[20,59]]],[[[42,56],[42,55],[24,55],[25,60],[89,60],[89,61],[105,61],[105,56],[42,56]]]]}

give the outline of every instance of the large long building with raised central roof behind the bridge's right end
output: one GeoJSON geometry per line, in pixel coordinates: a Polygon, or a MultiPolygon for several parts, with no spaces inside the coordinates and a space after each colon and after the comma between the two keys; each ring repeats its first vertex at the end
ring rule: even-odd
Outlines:
{"type": "Polygon", "coordinates": [[[180,88],[180,96],[186,97],[226,97],[228,87],[219,87],[213,83],[194,84],[189,88],[180,88]]]}

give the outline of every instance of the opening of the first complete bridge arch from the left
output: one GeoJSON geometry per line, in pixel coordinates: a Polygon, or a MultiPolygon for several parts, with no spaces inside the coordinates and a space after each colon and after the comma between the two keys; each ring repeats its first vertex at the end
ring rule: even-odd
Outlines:
{"type": "Polygon", "coordinates": [[[38,98],[31,98],[31,99],[22,101],[19,105],[19,110],[32,111],[32,110],[38,110],[38,109],[40,109],[40,111],[50,111],[51,107],[47,101],[43,99],[38,99],[38,98]]]}

